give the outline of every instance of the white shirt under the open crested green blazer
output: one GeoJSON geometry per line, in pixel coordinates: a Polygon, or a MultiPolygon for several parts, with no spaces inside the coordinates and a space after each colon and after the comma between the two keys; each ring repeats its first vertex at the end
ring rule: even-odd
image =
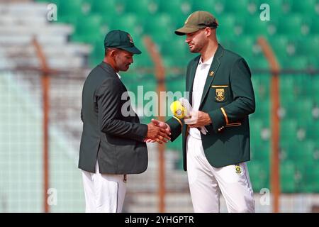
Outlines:
{"type": "MultiPolygon", "coordinates": [[[[214,56],[213,56],[214,57],[214,56]]],[[[202,58],[200,58],[194,83],[193,83],[193,90],[192,90],[192,106],[194,111],[198,111],[199,105],[201,104],[201,96],[203,95],[203,88],[205,87],[206,78],[209,72],[209,69],[211,68],[211,63],[213,62],[213,57],[208,59],[206,62],[202,62],[202,58]]],[[[201,132],[197,128],[190,128],[189,129],[189,135],[192,137],[201,140],[201,132]]]]}

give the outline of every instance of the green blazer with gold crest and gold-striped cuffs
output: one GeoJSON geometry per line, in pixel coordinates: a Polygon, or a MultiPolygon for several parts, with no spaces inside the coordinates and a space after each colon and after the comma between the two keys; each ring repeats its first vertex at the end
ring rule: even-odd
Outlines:
{"type": "MultiPolygon", "coordinates": [[[[186,92],[192,97],[193,82],[200,55],[189,62],[186,71],[186,92]]],[[[254,91],[247,62],[221,45],[213,57],[201,97],[199,110],[208,113],[212,123],[201,134],[203,149],[213,167],[224,167],[250,160],[250,125],[248,115],[254,113],[254,91]]],[[[191,103],[191,99],[189,99],[191,103]]],[[[170,118],[174,141],[183,136],[183,163],[186,167],[186,137],[189,128],[183,121],[170,118]],[[182,125],[182,126],[181,126],[182,125]]]]}

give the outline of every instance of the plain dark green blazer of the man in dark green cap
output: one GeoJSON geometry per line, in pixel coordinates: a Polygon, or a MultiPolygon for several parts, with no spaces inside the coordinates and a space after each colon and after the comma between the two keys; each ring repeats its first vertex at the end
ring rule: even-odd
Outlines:
{"type": "MultiPolygon", "coordinates": [[[[141,124],[122,99],[127,92],[111,65],[101,62],[86,77],[82,92],[83,132],[79,168],[95,172],[96,160],[103,174],[136,174],[147,168],[147,125],[141,124]],[[123,114],[122,109],[129,114],[123,114]]],[[[129,104],[129,105],[128,105],[129,104]]]]}

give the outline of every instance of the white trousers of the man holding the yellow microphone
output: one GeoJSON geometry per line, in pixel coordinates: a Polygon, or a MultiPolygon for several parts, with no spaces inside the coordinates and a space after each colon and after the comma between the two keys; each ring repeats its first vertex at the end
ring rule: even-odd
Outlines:
{"type": "Polygon", "coordinates": [[[212,167],[206,159],[201,140],[188,136],[187,175],[194,212],[219,212],[220,192],[228,212],[254,212],[254,197],[245,162],[212,167]]]}

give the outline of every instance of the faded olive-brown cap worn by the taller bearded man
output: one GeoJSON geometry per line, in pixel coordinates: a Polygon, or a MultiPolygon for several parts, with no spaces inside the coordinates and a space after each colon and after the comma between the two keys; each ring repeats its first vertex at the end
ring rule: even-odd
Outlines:
{"type": "Polygon", "coordinates": [[[201,28],[217,28],[218,22],[216,18],[207,11],[195,11],[186,19],[184,26],[175,31],[177,35],[185,35],[186,33],[194,33],[201,28]]]}

